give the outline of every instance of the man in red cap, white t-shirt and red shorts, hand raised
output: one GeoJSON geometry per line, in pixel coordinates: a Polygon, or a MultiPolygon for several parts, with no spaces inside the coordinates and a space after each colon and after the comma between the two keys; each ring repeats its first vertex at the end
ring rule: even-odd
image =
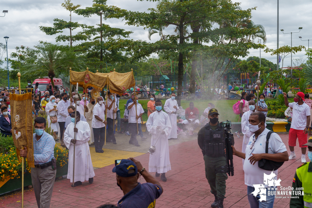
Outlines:
{"type": "Polygon", "coordinates": [[[293,108],[293,117],[291,121],[291,126],[289,130],[288,145],[290,149],[289,159],[295,159],[295,146],[296,140],[298,138],[299,147],[301,147],[301,162],[305,163],[305,152],[307,146],[307,133],[309,131],[310,124],[310,107],[305,104],[305,94],[303,92],[298,92],[294,98],[294,103],[289,103],[287,99],[287,94],[284,92],[285,105],[287,107],[293,108]]]}

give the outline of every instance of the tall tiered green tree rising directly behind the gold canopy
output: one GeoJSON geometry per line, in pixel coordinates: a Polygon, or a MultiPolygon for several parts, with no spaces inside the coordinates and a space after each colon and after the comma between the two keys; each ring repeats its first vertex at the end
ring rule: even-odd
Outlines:
{"type": "MultiPolygon", "coordinates": [[[[102,23],[102,19],[106,20],[109,15],[115,12],[114,6],[107,6],[106,2],[107,0],[94,0],[92,7],[75,10],[75,13],[84,17],[91,17],[94,14],[100,17],[100,24],[97,24],[98,27],[90,26],[84,30],[87,36],[93,36],[92,41],[83,42],[78,49],[87,52],[88,58],[97,58],[99,56],[100,61],[98,63],[100,69],[103,68],[104,59],[106,62],[126,60],[122,56],[121,48],[116,47],[115,37],[129,37],[129,34],[132,33],[131,31],[113,28],[102,23]]],[[[93,64],[95,63],[94,60],[92,62],[93,64]]]]}

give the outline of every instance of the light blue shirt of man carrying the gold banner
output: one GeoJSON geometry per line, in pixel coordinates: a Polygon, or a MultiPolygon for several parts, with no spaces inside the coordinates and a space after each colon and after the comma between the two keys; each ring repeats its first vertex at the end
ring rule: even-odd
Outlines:
{"type": "Polygon", "coordinates": [[[36,133],[33,134],[34,159],[35,165],[42,165],[50,162],[54,158],[55,141],[47,132],[43,132],[41,138],[37,141],[36,133]]]}

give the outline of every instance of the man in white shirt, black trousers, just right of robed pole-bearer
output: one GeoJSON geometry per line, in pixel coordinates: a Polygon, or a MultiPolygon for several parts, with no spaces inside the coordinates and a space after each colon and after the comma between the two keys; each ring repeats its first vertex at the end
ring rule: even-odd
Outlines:
{"type": "Polygon", "coordinates": [[[105,143],[105,105],[103,97],[97,98],[97,104],[93,108],[92,129],[94,134],[95,152],[103,153],[103,145],[105,143]]]}

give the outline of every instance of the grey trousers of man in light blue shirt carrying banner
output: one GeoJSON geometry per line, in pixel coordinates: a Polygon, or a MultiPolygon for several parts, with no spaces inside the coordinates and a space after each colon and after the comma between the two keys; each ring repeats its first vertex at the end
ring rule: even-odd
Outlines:
{"type": "Polygon", "coordinates": [[[56,170],[51,165],[43,169],[32,167],[31,176],[38,208],[49,208],[56,170]]]}

